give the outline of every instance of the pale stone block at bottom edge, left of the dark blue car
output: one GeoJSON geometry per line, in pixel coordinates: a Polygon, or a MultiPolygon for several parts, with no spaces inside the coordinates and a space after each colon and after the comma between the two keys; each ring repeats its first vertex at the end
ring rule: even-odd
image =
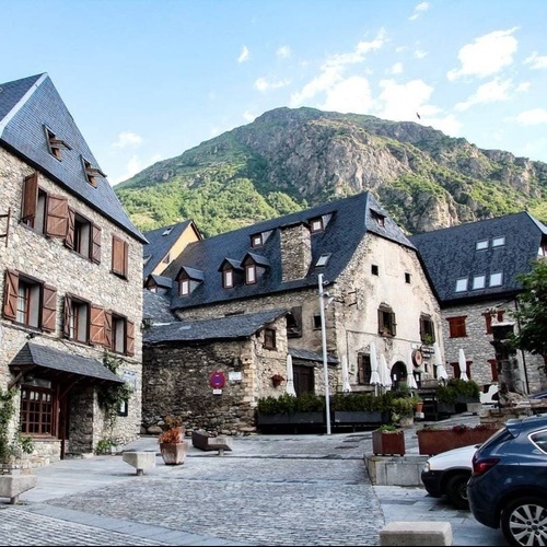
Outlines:
{"type": "Polygon", "coordinates": [[[380,531],[381,546],[452,545],[452,525],[450,522],[416,521],[391,522],[380,531]]]}

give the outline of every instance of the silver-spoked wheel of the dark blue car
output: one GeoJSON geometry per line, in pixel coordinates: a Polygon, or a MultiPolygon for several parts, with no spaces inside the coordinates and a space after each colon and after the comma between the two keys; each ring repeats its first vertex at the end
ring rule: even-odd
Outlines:
{"type": "Polygon", "coordinates": [[[547,545],[547,500],[511,501],[501,513],[501,529],[510,545],[547,545]]]}

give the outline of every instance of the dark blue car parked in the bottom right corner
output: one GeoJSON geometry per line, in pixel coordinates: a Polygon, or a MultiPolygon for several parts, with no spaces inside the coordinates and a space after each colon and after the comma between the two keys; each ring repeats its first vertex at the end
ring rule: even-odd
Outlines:
{"type": "Polygon", "coordinates": [[[473,516],[510,545],[547,545],[547,414],[508,420],[472,464],[473,516]]]}

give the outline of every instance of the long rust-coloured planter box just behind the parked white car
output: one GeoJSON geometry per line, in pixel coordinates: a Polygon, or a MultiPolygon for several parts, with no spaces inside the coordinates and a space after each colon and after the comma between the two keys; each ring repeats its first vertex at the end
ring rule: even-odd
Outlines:
{"type": "Polygon", "coordinates": [[[420,454],[432,456],[469,444],[481,444],[496,431],[498,431],[496,427],[465,428],[461,426],[446,429],[419,429],[416,432],[418,435],[418,451],[420,454]]]}

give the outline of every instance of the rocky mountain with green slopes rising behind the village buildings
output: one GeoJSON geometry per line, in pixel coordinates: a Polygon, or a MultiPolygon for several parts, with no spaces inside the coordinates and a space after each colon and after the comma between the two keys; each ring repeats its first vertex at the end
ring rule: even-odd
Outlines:
{"type": "Polygon", "coordinates": [[[205,236],[371,190],[408,233],[527,210],[547,221],[547,163],[410,121],[276,108],[114,187],[142,231],[205,236]]]}

